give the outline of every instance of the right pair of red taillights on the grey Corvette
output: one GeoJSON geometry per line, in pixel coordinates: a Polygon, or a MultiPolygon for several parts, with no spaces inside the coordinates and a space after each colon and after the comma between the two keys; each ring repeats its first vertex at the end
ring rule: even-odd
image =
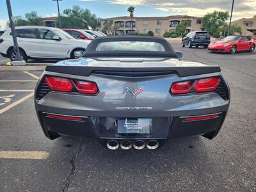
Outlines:
{"type": "Polygon", "coordinates": [[[205,79],[196,79],[191,81],[182,81],[173,83],[170,93],[173,95],[191,92],[213,92],[221,83],[220,77],[209,77],[205,79]],[[193,90],[192,90],[193,89],[193,90]]]}

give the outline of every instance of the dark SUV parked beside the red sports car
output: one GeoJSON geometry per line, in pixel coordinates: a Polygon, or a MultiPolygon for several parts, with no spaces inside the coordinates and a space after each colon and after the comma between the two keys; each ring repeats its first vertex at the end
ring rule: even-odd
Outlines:
{"type": "Polygon", "coordinates": [[[195,46],[204,46],[207,48],[211,42],[211,36],[207,31],[191,31],[184,38],[182,38],[182,47],[188,45],[189,48],[195,46]]]}

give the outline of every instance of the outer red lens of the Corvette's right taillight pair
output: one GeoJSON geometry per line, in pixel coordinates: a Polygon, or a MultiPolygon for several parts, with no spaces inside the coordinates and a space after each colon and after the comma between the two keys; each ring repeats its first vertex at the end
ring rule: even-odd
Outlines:
{"type": "Polygon", "coordinates": [[[216,90],[221,82],[220,77],[210,77],[205,79],[199,79],[196,82],[195,90],[196,92],[212,92],[216,90]]]}

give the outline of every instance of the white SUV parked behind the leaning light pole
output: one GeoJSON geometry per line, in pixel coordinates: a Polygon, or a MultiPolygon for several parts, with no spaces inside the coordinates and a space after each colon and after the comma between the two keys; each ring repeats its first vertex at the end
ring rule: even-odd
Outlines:
{"type": "MultiPolygon", "coordinates": [[[[90,40],[76,40],[65,31],[58,28],[43,26],[20,26],[15,28],[20,49],[24,60],[28,58],[76,58],[81,55],[90,40]]],[[[12,33],[10,29],[0,38],[0,53],[12,61],[15,59],[12,33]]]]}

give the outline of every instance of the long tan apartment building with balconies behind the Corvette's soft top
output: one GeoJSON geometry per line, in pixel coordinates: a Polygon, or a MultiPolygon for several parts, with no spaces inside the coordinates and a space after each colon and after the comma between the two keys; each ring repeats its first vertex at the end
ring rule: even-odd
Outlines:
{"type": "MultiPolygon", "coordinates": [[[[190,24],[187,28],[187,32],[204,30],[201,19],[202,17],[189,17],[190,24]]],[[[155,36],[163,36],[164,32],[175,30],[177,24],[186,20],[186,16],[133,17],[133,21],[131,21],[130,17],[112,17],[100,20],[99,31],[104,31],[104,20],[113,20],[113,25],[119,26],[116,35],[131,35],[133,25],[133,33],[135,33],[135,31],[138,31],[139,33],[153,31],[155,36]]]]}

